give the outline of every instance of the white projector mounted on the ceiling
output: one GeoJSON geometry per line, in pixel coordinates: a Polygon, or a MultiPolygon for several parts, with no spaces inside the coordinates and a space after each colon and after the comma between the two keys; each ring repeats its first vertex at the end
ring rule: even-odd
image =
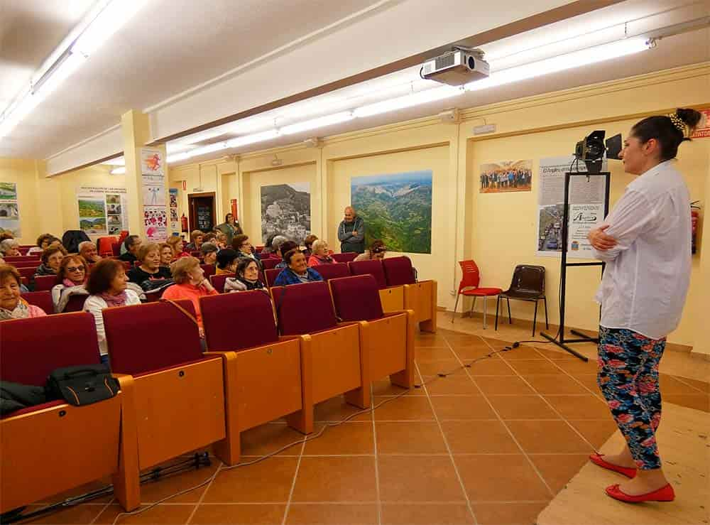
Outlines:
{"type": "Polygon", "coordinates": [[[491,74],[480,49],[454,47],[448,53],[427,60],[422,65],[420,76],[442,84],[461,86],[481,80],[491,74]]]}

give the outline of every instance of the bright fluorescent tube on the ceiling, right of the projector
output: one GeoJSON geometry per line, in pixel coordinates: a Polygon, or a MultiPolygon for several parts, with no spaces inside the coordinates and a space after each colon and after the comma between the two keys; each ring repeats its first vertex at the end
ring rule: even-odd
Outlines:
{"type": "Polygon", "coordinates": [[[567,53],[518,67],[510,67],[507,70],[496,71],[491,73],[490,77],[476,80],[476,82],[469,82],[464,87],[466,91],[485,90],[488,87],[510,84],[511,82],[549,75],[550,73],[569,70],[574,67],[633,55],[647,50],[649,47],[647,41],[643,38],[628,38],[627,40],[596,45],[594,48],[582,49],[574,51],[574,53],[567,53]]]}

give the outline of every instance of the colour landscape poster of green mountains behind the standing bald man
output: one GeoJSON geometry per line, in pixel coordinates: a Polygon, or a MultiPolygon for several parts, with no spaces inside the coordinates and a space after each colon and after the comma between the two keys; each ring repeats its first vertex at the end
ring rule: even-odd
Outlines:
{"type": "Polygon", "coordinates": [[[351,203],[365,221],[365,246],[381,239],[388,250],[432,253],[432,170],[359,175],[351,203]]]}

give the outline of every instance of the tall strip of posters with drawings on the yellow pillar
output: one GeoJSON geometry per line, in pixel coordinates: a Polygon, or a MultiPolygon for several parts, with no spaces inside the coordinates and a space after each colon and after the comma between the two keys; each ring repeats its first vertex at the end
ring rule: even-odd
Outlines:
{"type": "Polygon", "coordinates": [[[141,148],[143,228],[150,242],[163,242],[168,238],[169,212],[168,196],[165,195],[164,163],[163,152],[159,149],[141,148]]]}

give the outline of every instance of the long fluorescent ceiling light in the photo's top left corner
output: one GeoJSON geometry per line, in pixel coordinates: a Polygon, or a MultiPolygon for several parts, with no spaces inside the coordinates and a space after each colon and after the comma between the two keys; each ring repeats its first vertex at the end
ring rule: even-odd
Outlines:
{"type": "Polygon", "coordinates": [[[14,101],[0,114],[0,139],[77,70],[145,0],[102,0],[64,40],[14,101]],[[78,29],[82,28],[82,29],[78,29]],[[79,31],[78,35],[75,35],[79,31]],[[71,40],[73,38],[73,40],[71,40]]]}

